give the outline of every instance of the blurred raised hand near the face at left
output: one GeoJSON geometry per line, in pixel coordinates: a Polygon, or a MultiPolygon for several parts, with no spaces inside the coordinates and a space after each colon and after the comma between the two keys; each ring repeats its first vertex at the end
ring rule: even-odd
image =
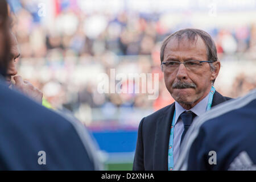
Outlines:
{"type": "Polygon", "coordinates": [[[23,94],[31,97],[33,100],[42,104],[43,93],[35,88],[29,81],[22,79],[21,76],[14,76],[15,87],[20,90],[23,94]]]}

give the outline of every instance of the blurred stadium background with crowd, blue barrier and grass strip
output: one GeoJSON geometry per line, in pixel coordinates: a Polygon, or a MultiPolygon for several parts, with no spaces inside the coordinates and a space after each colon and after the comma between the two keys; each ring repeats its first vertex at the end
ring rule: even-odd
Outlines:
{"type": "Polygon", "coordinates": [[[106,170],[131,169],[139,122],[174,102],[160,70],[160,44],[168,34],[188,27],[209,32],[222,65],[214,86],[224,96],[237,98],[256,88],[256,1],[9,3],[22,55],[19,75],[89,128],[106,170]],[[113,68],[158,73],[159,97],[98,93],[98,75],[110,75],[113,68]]]}

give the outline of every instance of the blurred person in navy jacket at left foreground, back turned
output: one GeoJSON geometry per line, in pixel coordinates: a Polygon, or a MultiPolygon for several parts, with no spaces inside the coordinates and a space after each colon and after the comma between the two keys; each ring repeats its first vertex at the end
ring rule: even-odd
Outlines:
{"type": "Polygon", "coordinates": [[[97,170],[86,129],[5,84],[10,56],[7,3],[0,1],[0,170],[97,170]]]}

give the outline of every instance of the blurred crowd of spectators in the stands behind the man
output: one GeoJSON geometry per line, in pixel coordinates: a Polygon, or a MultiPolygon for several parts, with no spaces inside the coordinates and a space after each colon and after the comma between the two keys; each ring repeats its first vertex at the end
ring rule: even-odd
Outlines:
{"type": "MultiPolygon", "coordinates": [[[[22,55],[19,75],[42,90],[53,107],[69,110],[91,126],[102,121],[101,115],[109,122],[137,126],[137,118],[174,102],[164,86],[160,44],[168,34],[193,24],[166,24],[165,15],[160,13],[86,13],[75,0],[52,1],[51,13],[47,7],[43,12],[44,4],[38,6],[38,1],[10,2],[22,55]],[[112,68],[127,74],[158,73],[159,97],[148,100],[143,93],[98,93],[98,75],[110,77],[112,68]]],[[[256,22],[204,30],[216,42],[221,61],[256,63],[256,22]]],[[[238,97],[253,88],[255,78],[242,74],[234,79],[233,88],[222,94],[238,97]]]]}

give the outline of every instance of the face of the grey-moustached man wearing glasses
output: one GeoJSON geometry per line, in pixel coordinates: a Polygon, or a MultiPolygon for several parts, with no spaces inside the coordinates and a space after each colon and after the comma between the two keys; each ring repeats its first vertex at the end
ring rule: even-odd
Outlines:
{"type": "MultiPolygon", "coordinates": [[[[188,60],[200,60],[205,61],[207,59],[207,48],[204,41],[198,37],[197,41],[190,42],[187,38],[180,40],[179,44],[176,38],[172,38],[164,49],[164,60],[165,61],[188,61],[188,60]]],[[[218,62],[218,61],[217,61],[218,62]]],[[[214,63],[214,65],[218,63],[214,63]]],[[[164,82],[171,96],[179,104],[193,105],[195,106],[200,100],[202,100],[210,91],[212,81],[218,75],[219,68],[217,71],[210,71],[209,63],[201,63],[200,69],[196,71],[188,71],[184,64],[175,71],[168,71],[164,68],[164,82]],[[173,84],[179,82],[189,83],[193,85],[189,88],[177,89],[173,88],[173,84]]],[[[175,86],[174,86],[175,87],[175,86]]],[[[192,107],[193,107],[192,106],[192,107]]]]}

